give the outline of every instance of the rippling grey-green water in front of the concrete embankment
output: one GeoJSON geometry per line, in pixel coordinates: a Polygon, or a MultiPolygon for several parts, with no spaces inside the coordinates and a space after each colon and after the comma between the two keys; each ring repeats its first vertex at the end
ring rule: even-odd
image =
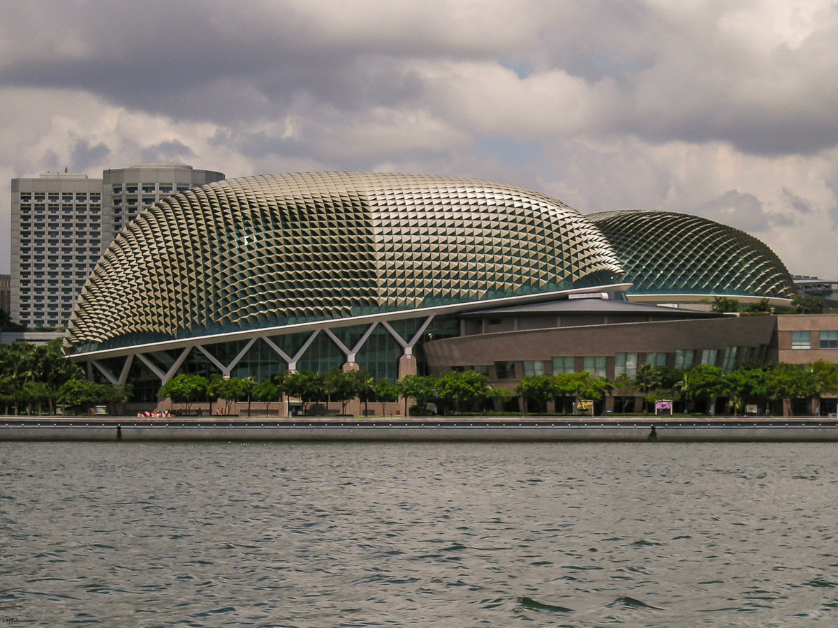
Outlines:
{"type": "Polygon", "coordinates": [[[0,443],[0,621],[838,625],[836,452],[0,443]]]}

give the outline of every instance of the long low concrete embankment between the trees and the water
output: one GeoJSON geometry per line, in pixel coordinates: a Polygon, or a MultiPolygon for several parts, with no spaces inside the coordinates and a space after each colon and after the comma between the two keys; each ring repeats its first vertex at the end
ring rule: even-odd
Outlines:
{"type": "Polygon", "coordinates": [[[0,440],[56,441],[838,441],[838,421],[632,418],[0,419],[0,440]]]}

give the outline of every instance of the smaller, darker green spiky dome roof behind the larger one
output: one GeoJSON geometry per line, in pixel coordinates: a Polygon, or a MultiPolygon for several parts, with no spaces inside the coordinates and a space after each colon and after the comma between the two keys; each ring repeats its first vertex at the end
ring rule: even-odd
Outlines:
{"type": "Polygon", "coordinates": [[[673,212],[589,214],[619,255],[629,295],[790,299],[789,270],[767,245],[713,220],[673,212]]]}

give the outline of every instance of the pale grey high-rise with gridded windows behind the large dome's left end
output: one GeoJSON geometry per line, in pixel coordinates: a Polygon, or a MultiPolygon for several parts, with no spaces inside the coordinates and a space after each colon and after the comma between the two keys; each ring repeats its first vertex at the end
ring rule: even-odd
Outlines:
{"type": "Polygon", "coordinates": [[[160,198],[223,178],[186,164],[154,163],[108,169],[102,178],[47,172],[12,179],[12,320],[65,325],[122,227],[160,198]]]}

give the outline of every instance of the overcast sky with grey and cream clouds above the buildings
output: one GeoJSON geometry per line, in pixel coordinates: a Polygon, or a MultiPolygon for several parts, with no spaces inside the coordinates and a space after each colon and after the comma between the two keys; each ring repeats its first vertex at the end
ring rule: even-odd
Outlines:
{"type": "Polygon", "coordinates": [[[3,224],[11,178],[65,167],[423,172],[701,214],[838,278],[834,0],[0,8],[3,224]]]}

